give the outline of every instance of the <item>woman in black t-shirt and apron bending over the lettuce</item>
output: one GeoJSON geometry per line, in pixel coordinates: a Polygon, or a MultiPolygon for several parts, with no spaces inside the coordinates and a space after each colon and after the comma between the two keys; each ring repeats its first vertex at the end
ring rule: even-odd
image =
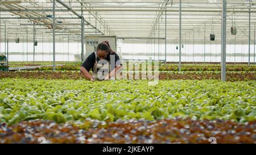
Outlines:
{"type": "Polygon", "coordinates": [[[108,41],[103,41],[102,43],[98,44],[97,52],[93,52],[92,54],[90,54],[86,58],[84,63],[82,63],[80,71],[84,75],[84,77],[90,79],[91,81],[95,81],[96,79],[110,79],[114,77],[115,74],[119,73],[121,69],[122,64],[119,56],[117,55],[117,53],[112,51],[108,41]],[[108,63],[106,65],[102,65],[104,64],[103,62],[106,61],[108,63]],[[89,73],[90,69],[92,69],[93,71],[92,75],[89,73]],[[105,69],[109,72],[104,73],[105,75],[102,76],[102,73],[99,71],[100,69],[105,69]]]}

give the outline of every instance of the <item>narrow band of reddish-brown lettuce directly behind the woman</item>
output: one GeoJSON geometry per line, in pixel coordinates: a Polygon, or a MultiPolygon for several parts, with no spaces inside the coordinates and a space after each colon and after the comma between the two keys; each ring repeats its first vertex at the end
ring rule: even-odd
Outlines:
{"type": "MultiPolygon", "coordinates": [[[[132,72],[133,77],[135,72],[132,72]]],[[[127,77],[128,74],[123,71],[123,77],[127,77]]],[[[146,72],[140,72],[139,76],[142,74],[146,75],[146,72]]],[[[256,72],[227,72],[226,81],[251,81],[256,80],[256,72]]],[[[20,72],[1,72],[0,79],[2,78],[32,78],[32,79],[84,79],[80,71],[20,71],[20,72]]],[[[159,79],[221,79],[221,72],[214,71],[192,71],[192,72],[169,72],[160,71],[159,79]]]]}

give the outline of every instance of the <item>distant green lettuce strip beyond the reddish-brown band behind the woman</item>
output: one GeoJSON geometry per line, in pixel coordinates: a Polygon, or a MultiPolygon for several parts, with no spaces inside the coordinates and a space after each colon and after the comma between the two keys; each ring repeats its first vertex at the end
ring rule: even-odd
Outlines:
{"type": "MultiPolygon", "coordinates": [[[[9,62],[11,67],[17,66],[40,66],[40,65],[52,65],[52,62],[9,62]]],[[[131,70],[141,70],[142,64],[146,65],[149,64],[148,62],[136,62],[136,61],[122,61],[122,64],[127,66],[132,66],[133,69],[131,70]]],[[[61,62],[56,61],[56,70],[80,70],[81,62],[61,62]]],[[[178,71],[179,65],[178,64],[165,64],[163,62],[159,62],[159,70],[160,71],[178,71]]],[[[152,62],[152,69],[154,70],[154,61],[152,62]]],[[[51,66],[44,66],[42,68],[38,68],[36,70],[52,70],[51,66]]],[[[205,72],[205,71],[220,71],[221,65],[220,64],[181,64],[181,71],[198,71],[198,72],[205,72]]],[[[251,66],[247,66],[247,64],[227,64],[226,65],[227,71],[232,72],[256,72],[256,65],[251,64],[251,66]]]]}

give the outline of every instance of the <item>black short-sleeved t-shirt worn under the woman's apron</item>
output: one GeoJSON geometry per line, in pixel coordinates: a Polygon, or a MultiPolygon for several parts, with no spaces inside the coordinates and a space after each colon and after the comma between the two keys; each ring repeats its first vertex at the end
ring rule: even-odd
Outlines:
{"type": "MultiPolygon", "coordinates": [[[[110,61],[110,55],[113,55],[115,57],[115,67],[118,65],[122,65],[119,56],[117,55],[117,53],[113,52],[113,53],[109,53],[109,55],[105,58],[106,61],[110,61]],[[119,61],[118,61],[119,60],[119,61]],[[118,61],[118,62],[117,62],[118,61]]],[[[82,66],[89,72],[90,69],[93,70],[93,65],[95,63],[95,53],[91,53],[86,60],[82,63],[82,66]]],[[[100,58],[97,57],[97,62],[100,60],[100,58]]],[[[94,72],[94,70],[93,70],[94,72]]]]}

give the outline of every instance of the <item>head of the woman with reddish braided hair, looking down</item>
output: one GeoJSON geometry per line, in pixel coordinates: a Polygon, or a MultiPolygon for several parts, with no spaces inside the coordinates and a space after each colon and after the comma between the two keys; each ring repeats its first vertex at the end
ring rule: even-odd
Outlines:
{"type": "Polygon", "coordinates": [[[100,59],[105,59],[109,53],[113,53],[112,49],[110,48],[108,41],[103,41],[102,43],[98,44],[97,47],[97,56],[100,59]]]}

